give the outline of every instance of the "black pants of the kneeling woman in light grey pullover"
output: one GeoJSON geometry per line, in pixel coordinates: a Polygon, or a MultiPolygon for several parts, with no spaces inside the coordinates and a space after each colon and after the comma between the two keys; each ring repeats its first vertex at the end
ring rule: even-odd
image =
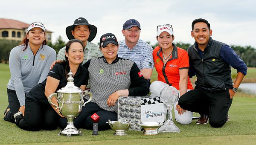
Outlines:
{"type": "Polygon", "coordinates": [[[19,112],[20,102],[18,100],[15,90],[7,89],[7,96],[8,96],[8,103],[9,103],[7,108],[10,108],[10,110],[6,113],[6,116],[4,116],[3,119],[5,121],[15,123],[15,118],[13,117],[13,114],[19,112]]]}

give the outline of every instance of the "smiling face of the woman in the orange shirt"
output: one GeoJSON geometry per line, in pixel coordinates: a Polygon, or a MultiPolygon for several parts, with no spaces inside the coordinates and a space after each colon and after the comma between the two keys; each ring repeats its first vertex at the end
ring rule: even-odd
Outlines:
{"type": "Polygon", "coordinates": [[[162,32],[158,37],[157,41],[162,49],[172,49],[172,41],[174,37],[172,37],[168,32],[162,32]]]}

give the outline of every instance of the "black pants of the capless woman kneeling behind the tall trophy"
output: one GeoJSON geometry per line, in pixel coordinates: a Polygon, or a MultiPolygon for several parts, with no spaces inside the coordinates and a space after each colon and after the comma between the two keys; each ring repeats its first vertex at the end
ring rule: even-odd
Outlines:
{"type": "MultiPolygon", "coordinates": [[[[41,87],[41,86],[38,86],[41,87]]],[[[32,88],[34,89],[34,88],[32,88]]],[[[40,89],[41,90],[41,89],[40,89]]],[[[25,99],[24,118],[18,127],[27,131],[55,130],[60,116],[53,110],[42,91],[30,90],[25,99]]]]}

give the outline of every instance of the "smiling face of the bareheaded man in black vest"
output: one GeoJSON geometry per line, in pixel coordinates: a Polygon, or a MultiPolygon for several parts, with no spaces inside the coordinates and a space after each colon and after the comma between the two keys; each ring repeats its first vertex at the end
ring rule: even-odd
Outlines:
{"type": "Polygon", "coordinates": [[[192,38],[198,43],[198,47],[204,50],[208,44],[210,36],[212,36],[212,30],[209,30],[207,24],[204,22],[195,23],[193,31],[191,31],[192,38]]]}

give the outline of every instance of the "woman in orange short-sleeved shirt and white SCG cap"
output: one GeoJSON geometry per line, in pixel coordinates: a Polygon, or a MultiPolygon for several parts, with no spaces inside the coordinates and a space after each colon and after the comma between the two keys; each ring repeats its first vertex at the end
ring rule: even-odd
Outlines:
{"type": "MultiPolygon", "coordinates": [[[[175,46],[172,25],[157,26],[157,46],[153,51],[154,65],[158,74],[158,81],[162,81],[179,90],[182,97],[188,90],[192,90],[189,81],[189,56],[186,50],[175,46]]],[[[175,106],[175,119],[180,124],[189,124],[193,113],[183,110],[177,104],[175,106]]]]}

